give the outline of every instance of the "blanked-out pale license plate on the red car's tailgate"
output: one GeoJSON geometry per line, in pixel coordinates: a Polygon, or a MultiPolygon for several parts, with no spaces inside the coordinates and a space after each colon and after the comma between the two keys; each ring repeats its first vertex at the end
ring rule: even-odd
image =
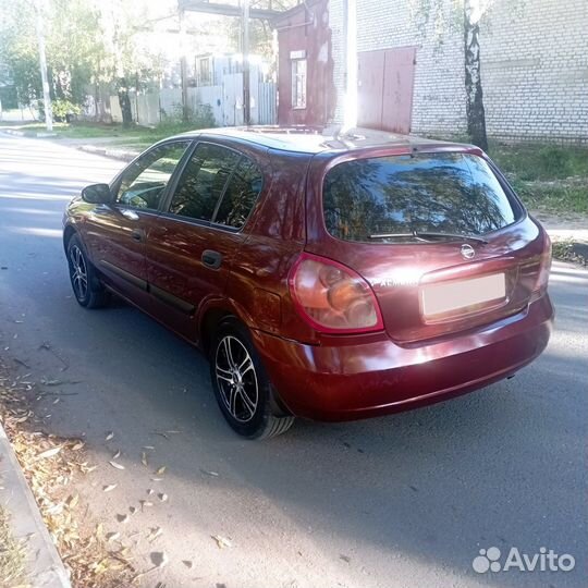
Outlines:
{"type": "Polygon", "coordinates": [[[505,296],[504,273],[445,284],[430,284],[422,289],[422,314],[426,317],[443,315],[460,308],[499,301],[505,296]]]}

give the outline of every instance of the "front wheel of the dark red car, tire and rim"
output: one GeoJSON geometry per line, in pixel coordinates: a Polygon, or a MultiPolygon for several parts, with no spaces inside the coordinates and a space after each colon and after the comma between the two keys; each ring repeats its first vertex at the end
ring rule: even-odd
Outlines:
{"type": "Polygon", "coordinates": [[[109,303],[110,294],[100,282],[77,235],[68,243],[68,267],[72,290],[81,306],[100,308],[109,303]]]}

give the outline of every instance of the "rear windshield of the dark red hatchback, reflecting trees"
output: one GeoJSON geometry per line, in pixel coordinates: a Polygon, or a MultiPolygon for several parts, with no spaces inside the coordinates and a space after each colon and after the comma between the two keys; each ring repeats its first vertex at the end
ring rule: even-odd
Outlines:
{"type": "Polygon", "coordinates": [[[332,168],[322,204],[329,233],[346,241],[378,235],[482,235],[516,213],[488,163],[462,152],[357,159],[332,168]]]}

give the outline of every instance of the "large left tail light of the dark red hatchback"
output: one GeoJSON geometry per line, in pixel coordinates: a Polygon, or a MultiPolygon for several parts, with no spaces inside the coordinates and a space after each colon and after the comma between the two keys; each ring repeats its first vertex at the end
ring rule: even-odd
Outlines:
{"type": "Polygon", "coordinates": [[[369,284],[331,259],[302,254],[290,274],[290,292],[301,316],[317,331],[383,329],[380,307],[369,284]]]}

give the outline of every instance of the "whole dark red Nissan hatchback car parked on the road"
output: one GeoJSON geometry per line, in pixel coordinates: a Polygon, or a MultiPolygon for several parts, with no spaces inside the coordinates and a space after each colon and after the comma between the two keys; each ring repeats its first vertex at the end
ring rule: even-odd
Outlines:
{"type": "Polygon", "coordinates": [[[64,217],[77,302],[111,292],[210,358],[248,438],[514,375],[546,347],[551,245],[478,148],[248,127],[148,149],[64,217]]]}

